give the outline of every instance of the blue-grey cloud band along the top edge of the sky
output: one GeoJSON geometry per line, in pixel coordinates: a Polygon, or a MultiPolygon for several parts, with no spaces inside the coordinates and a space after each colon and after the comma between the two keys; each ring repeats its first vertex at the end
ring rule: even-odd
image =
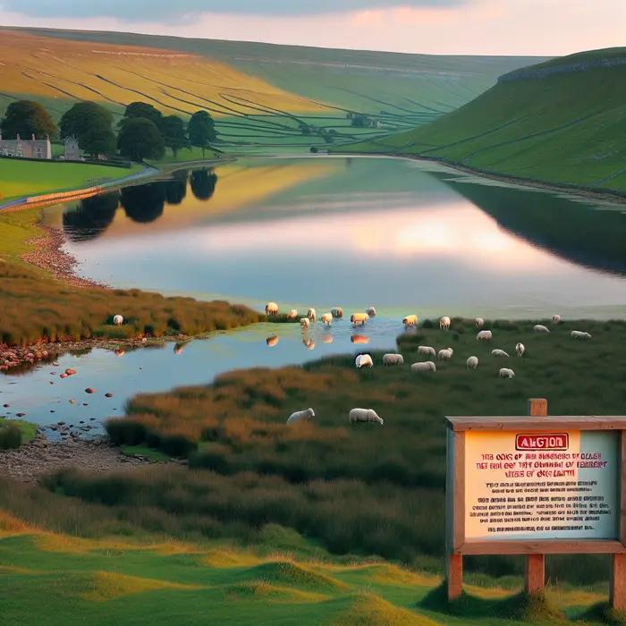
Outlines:
{"type": "Polygon", "coordinates": [[[201,13],[292,17],[396,7],[445,9],[471,0],[0,0],[0,10],[30,17],[115,17],[121,21],[189,22],[201,13]]]}

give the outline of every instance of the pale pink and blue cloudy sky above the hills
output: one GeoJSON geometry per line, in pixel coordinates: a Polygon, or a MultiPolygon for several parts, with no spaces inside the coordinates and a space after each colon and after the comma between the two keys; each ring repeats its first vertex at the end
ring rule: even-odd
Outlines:
{"type": "Polygon", "coordinates": [[[626,45],[625,0],[0,0],[0,24],[434,55],[626,45]]]}

